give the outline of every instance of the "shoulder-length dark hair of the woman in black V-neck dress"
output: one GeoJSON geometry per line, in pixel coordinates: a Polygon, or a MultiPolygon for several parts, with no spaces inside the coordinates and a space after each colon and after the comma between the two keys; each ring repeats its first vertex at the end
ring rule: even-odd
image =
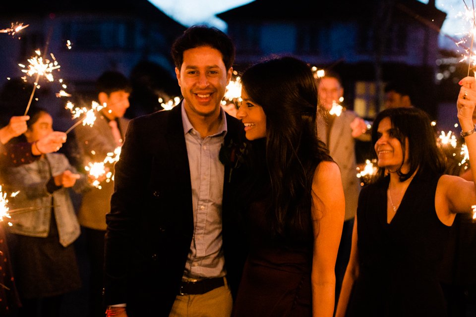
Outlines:
{"type": "MultiPolygon", "coordinates": [[[[408,173],[403,173],[401,170],[403,161],[397,169],[400,181],[409,179],[415,171],[417,175],[442,174],[445,171],[445,159],[436,145],[436,135],[426,112],[415,107],[389,108],[379,112],[372,125],[372,144],[378,140],[378,125],[384,118],[389,118],[392,122],[395,137],[402,144],[403,157],[405,158],[406,152],[409,154],[408,173]],[[406,138],[408,138],[408,149],[405,146],[406,138]]],[[[385,168],[379,167],[374,181],[381,181],[384,177],[385,168]]]]}

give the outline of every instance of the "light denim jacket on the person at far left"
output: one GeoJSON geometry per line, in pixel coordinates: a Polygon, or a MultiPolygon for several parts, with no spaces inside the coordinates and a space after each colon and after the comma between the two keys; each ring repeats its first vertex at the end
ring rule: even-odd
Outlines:
{"type": "MultiPolygon", "coordinates": [[[[60,188],[53,193],[47,191],[47,183],[52,176],[65,170],[76,173],[68,159],[59,153],[46,154],[32,163],[10,168],[7,171],[9,188],[20,191],[9,199],[9,209],[23,209],[12,212],[10,232],[31,237],[46,237],[50,230],[52,207],[60,235],[60,244],[71,244],[80,234],[78,219],[69,196],[68,188],[60,188]],[[38,209],[35,209],[38,208],[38,209]]],[[[76,180],[76,192],[88,187],[85,175],[76,180]]]]}

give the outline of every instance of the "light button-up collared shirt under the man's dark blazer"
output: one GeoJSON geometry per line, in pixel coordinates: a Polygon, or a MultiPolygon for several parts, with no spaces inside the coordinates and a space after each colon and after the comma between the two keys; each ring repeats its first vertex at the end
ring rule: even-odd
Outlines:
{"type": "Polygon", "coordinates": [[[184,278],[225,276],[222,250],[222,198],[225,166],[218,159],[227,133],[221,109],[218,132],[201,138],[188,120],[182,104],[182,123],[190,166],[193,206],[193,238],[184,278]]]}

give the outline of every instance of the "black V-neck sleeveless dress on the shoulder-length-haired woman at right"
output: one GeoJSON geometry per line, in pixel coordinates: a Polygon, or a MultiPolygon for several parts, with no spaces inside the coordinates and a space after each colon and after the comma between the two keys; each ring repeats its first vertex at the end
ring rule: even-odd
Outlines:
{"type": "Polygon", "coordinates": [[[390,224],[389,178],[362,189],[357,208],[359,275],[346,316],[447,316],[438,269],[451,227],[435,211],[440,176],[415,176],[390,224]]]}

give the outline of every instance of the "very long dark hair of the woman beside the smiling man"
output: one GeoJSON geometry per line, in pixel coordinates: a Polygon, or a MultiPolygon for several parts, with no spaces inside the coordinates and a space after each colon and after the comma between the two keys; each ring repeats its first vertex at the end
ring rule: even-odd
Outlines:
{"type": "Polygon", "coordinates": [[[322,160],[332,161],[317,138],[316,80],[305,62],[280,57],[251,66],[241,83],[266,114],[264,177],[269,177],[272,231],[281,237],[307,235],[314,171],[322,160]]]}

